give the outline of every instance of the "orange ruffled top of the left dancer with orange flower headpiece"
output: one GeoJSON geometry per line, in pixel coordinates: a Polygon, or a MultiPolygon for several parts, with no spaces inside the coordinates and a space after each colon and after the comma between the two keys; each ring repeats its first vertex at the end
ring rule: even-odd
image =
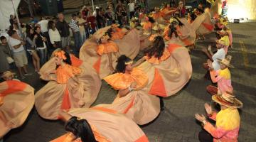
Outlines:
{"type": "Polygon", "coordinates": [[[63,67],[58,67],[56,70],[57,82],[60,84],[65,84],[68,82],[70,77],[74,77],[75,75],[79,75],[81,73],[80,68],[73,67],[71,65],[64,65],[63,67]]]}

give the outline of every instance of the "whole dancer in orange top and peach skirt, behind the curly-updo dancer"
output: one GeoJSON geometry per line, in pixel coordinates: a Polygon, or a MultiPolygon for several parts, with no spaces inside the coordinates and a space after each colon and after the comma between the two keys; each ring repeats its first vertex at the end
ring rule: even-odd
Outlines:
{"type": "Polygon", "coordinates": [[[95,68],[100,78],[111,75],[119,55],[134,59],[139,53],[139,32],[127,31],[120,39],[112,40],[112,26],[100,28],[80,49],[80,59],[95,68]]]}

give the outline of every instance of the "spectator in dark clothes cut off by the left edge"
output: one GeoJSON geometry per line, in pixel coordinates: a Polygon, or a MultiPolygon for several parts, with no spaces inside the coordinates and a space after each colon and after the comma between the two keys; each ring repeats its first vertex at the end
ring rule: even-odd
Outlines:
{"type": "Polygon", "coordinates": [[[1,36],[1,45],[0,45],[0,75],[3,72],[6,72],[10,69],[9,62],[7,60],[9,55],[9,45],[7,43],[6,37],[1,36]]]}

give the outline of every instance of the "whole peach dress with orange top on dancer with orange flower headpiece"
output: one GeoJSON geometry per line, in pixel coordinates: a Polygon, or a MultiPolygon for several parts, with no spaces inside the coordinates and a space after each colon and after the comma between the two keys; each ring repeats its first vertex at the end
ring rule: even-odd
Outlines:
{"type": "MultiPolygon", "coordinates": [[[[54,58],[46,62],[46,67],[54,67],[53,60],[54,58]]],[[[49,75],[56,81],[51,80],[36,92],[35,106],[38,114],[44,119],[58,119],[60,109],[90,107],[100,92],[102,82],[95,70],[87,62],[82,62],[75,56],[71,56],[71,62],[73,65],[80,65],[79,68],[68,64],[58,67],[56,74],[49,75]],[[76,77],[79,83],[72,77],[76,77]]],[[[42,68],[42,74],[50,70],[42,68]]]]}

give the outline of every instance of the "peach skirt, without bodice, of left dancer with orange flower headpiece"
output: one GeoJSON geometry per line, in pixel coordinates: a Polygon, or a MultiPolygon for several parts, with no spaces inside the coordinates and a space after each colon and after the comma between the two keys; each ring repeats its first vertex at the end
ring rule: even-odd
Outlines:
{"type": "MultiPolygon", "coordinates": [[[[48,80],[45,77],[44,72],[51,68],[55,68],[54,59],[49,60],[41,68],[41,78],[48,80]],[[47,68],[49,67],[49,68],[47,68]],[[45,70],[46,69],[46,70],[45,70]]],[[[60,110],[63,104],[63,97],[68,94],[68,99],[71,108],[87,108],[92,105],[97,99],[97,95],[100,92],[101,80],[95,70],[87,62],[82,62],[80,65],[82,70],[78,77],[79,84],[72,78],[68,80],[67,84],[59,84],[55,81],[50,81],[46,86],[36,92],[35,106],[38,114],[44,119],[58,119],[58,110],[60,110]],[[84,105],[80,105],[80,103],[84,105]]],[[[56,75],[53,75],[55,77],[56,75]]]]}

